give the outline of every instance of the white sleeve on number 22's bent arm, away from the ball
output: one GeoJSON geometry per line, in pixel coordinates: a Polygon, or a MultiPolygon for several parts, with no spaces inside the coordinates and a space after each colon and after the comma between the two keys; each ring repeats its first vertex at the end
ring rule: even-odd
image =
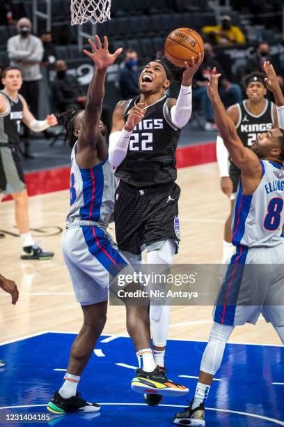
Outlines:
{"type": "Polygon", "coordinates": [[[113,167],[118,167],[125,159],[131,135],[132,131],[125,129],[109,135],[109,162],[113,167]]]}

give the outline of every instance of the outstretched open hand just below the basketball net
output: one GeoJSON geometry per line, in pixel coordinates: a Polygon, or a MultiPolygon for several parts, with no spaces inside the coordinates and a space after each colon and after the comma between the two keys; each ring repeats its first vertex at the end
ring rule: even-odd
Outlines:
{"type": "Polygon", "coordinates": [[[95,41],[96,45],[93,40],[89,38],[88,43],[90,44],[92,52],[89,52],[86,49],[84,49],[83,52],[93,59],[95,65],[99,69],[111,66],[116,61],[118,55],[123,52],[123,48],[119,47],[114,54],[109,53],[109,41],[107,40],[107,36],[104,36],[104,47],[102,47],[99,36],[95,36],[95,41]]]}

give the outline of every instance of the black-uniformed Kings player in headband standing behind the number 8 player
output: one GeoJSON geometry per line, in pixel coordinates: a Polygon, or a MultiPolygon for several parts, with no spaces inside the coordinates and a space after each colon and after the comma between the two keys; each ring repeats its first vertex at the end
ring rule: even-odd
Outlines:
{"type": "MultiPolygon", "coordinates": [[[[251,147],[260,133],[267,132],[271,128],[278,128],[278,121],[276,105],[265,98],[267,94],[265,75],[259,72],[248,74],[244,77],[244,84],[248,99],[232,105],[227,112],[236,125],[237,135],[239,135],[244,147],[251,147]]],[[[230,227],[241,171],[232,163],[228,150],[219,135],[216,142],[216,152],[221,176],[221,190],[230,199],[230,214],[225,223],[222,259],[222,264],[228,264],[234,252],[230,227]]]]}

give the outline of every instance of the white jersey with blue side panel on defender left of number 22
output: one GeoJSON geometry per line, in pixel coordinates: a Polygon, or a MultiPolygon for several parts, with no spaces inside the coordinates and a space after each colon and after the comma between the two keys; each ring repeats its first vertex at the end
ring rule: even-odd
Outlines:
{"type": "Polygon", "coordinates": [[[67,223],[88,220],[107,226],[113,221],[117,187],[109,156],[99,165],[82,168],[76,163],[76,147],[77,142],[71,153],[70,211],[67,223]]]}

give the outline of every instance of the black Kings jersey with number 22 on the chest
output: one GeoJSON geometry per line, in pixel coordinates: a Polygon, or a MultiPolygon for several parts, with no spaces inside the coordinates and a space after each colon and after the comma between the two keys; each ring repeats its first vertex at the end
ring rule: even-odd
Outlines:
{"type": "MultiPolygon", "coordinates": [[[[125,159],[116,169],[116,177],[136,188],[171,183],[177,177],[175,150],[181,130],[171,121],[167,101],[164,95],[148,107],[132,132],[125,159]]],[[[125,121],[137,103],[139,97],[129,101],[125,121]]]]}

